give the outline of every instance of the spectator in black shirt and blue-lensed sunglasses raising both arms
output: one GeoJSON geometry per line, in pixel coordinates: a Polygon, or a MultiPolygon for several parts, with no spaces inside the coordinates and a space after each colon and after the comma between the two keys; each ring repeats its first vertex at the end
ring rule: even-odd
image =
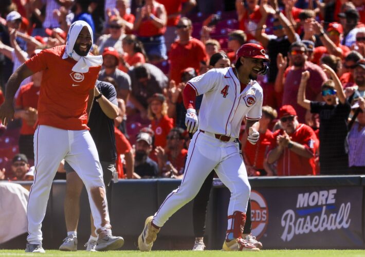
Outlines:
{"type": "Polygon", "coordinates": [[[309,79],[308,71],[302,73],[297,100],[298,104],[310,110],[311,113],[319,114],[320,174],[345,175],[348,174],[349,170],[348,155],[344,145],[348,134],[347,121],[351,105],[346,100],[336,72],[325,64],[322,64],[322,68],[332,78],[332,80],[327,80],[322,84],[324,102],[309,101],[305,98],[305,87],[309,79]]]}

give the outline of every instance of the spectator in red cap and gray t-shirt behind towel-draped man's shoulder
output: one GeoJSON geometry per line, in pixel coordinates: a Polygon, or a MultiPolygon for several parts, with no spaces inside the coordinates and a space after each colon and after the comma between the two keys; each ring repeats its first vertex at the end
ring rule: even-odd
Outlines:
{"type": "Polygon", "coordinates": [[[103,51],[103,69],[99,72],[99,80],[104,81],[111,77],[117,84],[117,95],[126,103],[131,93],[131,78],[128,74],[118,69],[119,53],[113,47],[106,47],[103,51]]]}

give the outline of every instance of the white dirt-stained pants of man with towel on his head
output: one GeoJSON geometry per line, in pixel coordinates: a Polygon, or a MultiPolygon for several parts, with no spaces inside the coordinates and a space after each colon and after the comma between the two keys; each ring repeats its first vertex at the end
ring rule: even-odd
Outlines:
{"type": "MultiPolygon", "coordinates": [[[[70,131],[39,125],[34,133],[35,175],[27,207],[27,241],[31,244],[42,243],[42,221],[52,180],[62,159],[70,164],[85,184],[96,229],[100,229],[105,220],[110,229],[107,205],[101,213],[90,193],[90,188],[101,187],[105,190],[98,152],[90,133],[87,130],[70,131]]],[[[106,197],[104,201],[106,204],[106,197]]]]}

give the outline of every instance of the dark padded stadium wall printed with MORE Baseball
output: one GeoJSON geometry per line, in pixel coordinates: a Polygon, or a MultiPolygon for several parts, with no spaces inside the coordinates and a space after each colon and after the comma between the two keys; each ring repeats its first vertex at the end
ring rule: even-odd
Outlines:
{"type": "MultiPolygon", "coordinates": [[[[365,176],[250,177],[252,234],[264,249],[365,249],[365,176]]],[[[113,233],[122,235],[122,249],[136,249],[144,219],[180,184],[176,179],[119,180],[112,186],[109,212],[113,233]]],[[[19,182],[29,188],[29,182],[19,182]]],[[[43,222],[45,249],[58,249],[66,236],[63,201],[65,181],[53,182],[43,222]]],[[[205,243],[221,249],[230,192],[214,179],[208,205],[205,243]]],[[[78,249],[90,233],[86,191],[80,199],[78,249]]],[[[26,235],[0,245],[23,248],[26,235]]],[[[194,243],[192,202],[165,224],[154,249],[191,249],[194,243]]]]}

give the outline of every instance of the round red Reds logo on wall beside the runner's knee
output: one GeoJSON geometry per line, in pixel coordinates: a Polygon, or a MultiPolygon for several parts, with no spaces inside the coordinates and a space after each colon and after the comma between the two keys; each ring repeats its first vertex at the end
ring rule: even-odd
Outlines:
{"type": "Polygon", "coordinates": [[[265,198],[259,192],[251,190],[251,233],[258,239],[265,233],[269,221],[269,210],[265,198]]]}

